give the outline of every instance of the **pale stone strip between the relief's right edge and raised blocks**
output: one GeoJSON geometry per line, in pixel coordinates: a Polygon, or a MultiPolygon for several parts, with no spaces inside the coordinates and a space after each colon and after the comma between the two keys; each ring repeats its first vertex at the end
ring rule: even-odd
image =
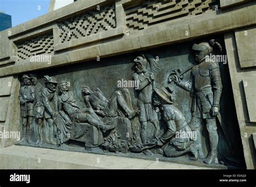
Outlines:
{"type": "MultiPolygon", "coordinates": [[[[227,33],[224,36],[228,57],[228,68],[230,69],[232,89],[235,100],[235,109],[237,110],[237,118],[240,127],[242,145],[244,148],[246,167],[247,169],[254,169],[256,155],[253,146],[252,133],[255,132],[255,127],[249,123],[250,119],[247,112],[246,97],[242,81],[245,78],[253,77],[255,75],[255,72],[240,70],[237,46],[235,43],[235,36],[233,33],[227,33]]],[[[253,83],[250,81],[247,82],[247,84],[253,85],[253,83]]],[[[255,90],[255,87],[250,89],[255,90]]]]}

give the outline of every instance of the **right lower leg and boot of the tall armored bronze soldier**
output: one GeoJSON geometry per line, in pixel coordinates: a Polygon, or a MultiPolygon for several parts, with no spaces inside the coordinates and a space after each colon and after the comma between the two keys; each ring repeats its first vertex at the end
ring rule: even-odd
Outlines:
{"type": "Polygon", "coordinates": [[[218,146],[218,133],[217,130],[208,130],[209,138],[210,138],[210,153],[204,160],[206,164],[212,164],[214,162],[218,162],[218,153],[217,153],[217,146],[218,146]]]}

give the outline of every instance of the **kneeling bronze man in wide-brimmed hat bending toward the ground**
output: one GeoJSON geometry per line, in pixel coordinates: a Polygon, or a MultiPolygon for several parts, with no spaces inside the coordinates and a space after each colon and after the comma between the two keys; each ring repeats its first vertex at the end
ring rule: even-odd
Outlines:
{"type": "MultiPolygon", "coordinates": [[[[193,132],[184,117],[184,114],[173,106],[176,97],[172,87],[155,89],[153,96],[154,105],[160,108],[160,113],[167,127],[167,131],[160,139],[153,139],[152,143],[163,146],[164,154],[167,157],[178,157],[185,153],[191,153],[191,160],[198,160],[198,150],[194,145],[193,132]]],[[[163,152],[163,150],[162,150],[163,152]]]]}

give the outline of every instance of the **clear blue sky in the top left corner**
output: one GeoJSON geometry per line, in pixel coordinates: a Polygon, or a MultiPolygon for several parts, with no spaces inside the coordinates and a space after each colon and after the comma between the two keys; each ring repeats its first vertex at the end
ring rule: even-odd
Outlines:
{"type": "Polygon", "coordinates": [[[0,11],[11,15],[12,26],[48,12],[50,0],[0,0],[0,11]]]}

